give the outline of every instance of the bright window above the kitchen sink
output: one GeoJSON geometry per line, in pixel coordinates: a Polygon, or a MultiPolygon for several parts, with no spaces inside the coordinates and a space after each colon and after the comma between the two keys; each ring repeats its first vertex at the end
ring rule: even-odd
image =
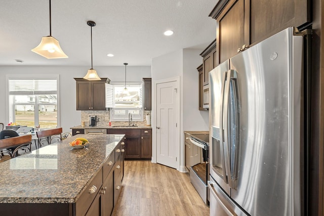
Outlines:
{"type": "Polygon", "coordinates": [[[128,92],[124,85],[113,85],[113,105],[110,108],[111,121],[128,121],[129,114],[133,121],[143,121],[142,85],[128,85],[128,92]]]}

